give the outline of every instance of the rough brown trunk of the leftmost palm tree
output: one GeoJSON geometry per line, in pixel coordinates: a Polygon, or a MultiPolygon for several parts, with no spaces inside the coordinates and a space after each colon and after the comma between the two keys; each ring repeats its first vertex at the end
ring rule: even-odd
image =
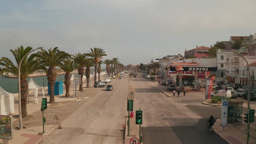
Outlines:
{"type": "Polygon", "coordinates": [[[20,80],[21,117],[28,116],[28,112],[27,112],[27,93],[28,93],[28,81],[26,79],[20,80]]]}

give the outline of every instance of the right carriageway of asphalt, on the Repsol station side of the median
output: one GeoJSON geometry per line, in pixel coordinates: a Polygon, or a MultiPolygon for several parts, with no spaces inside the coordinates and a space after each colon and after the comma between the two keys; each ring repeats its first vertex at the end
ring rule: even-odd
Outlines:
{"type": "Polygon", "coordinates": [[[220,117],[220,108],[201,104],[204,95],[187,92],[186,97],[166,97],[153,88],[156,82],[137,77],[133,81],[135,108],[143,110],[143,144],[226,144],[218,135],[206,131],[210,115],[220,117]]]}

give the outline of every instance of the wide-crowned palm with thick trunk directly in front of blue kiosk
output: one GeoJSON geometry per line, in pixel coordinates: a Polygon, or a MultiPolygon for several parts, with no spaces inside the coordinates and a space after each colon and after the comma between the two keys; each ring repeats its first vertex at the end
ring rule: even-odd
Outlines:
{"type": "Polygon", "coordinates": [[[56,67],[60,65],[60,63],[70,58],[70,55],[66,52],[60,51],[58,47],[55,47],[54,49],[50,48],[48,49],[48,52],[41,49],[41,52],[37,52],[35,55],[38,58],[38,60],[43,63],[46,67],[48,67],[46,75],[47,80],[50,85],[50,103],[55,103],[54,99],[54,85],[57,77],[56,67]]]}

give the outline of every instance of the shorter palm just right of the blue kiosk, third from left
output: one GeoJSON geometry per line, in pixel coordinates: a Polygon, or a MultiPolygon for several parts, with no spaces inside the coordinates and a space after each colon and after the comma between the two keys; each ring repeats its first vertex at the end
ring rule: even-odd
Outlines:
{"type": "Polygon", "coordinates": [[[74,69],[77,69],[78,65],[76,63],[74,63],[74,61],[71,58],[68,58],[68,59],[63,60],[63,62],[60,63],[59,67],[66,72],[66,74],[65,74],[65,86],[66,86],[65,96],[69,97],[70,96],[69,87],[70,87],[70,84],[71,84],[70,73],[74,69]]]}

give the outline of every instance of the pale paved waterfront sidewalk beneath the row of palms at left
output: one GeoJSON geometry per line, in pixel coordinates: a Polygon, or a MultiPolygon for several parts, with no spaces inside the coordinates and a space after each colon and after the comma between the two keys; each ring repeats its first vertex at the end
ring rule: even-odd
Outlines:
{"type": "MultiPolygon", "coordinates": [[[[85,87],[85,84],[83,85],[83,87],[85,87]]],[[[92,88],[89,88],[92,89],[92,88]]],[[[86,92],[86,90],[88,90],[88,88],[84,88],[84,92],[86,92]]],[[[66,94],[66,87],[65,85],[63,86],[63,94],[61,95],[55,95],[54,99],[55,99],[55,103],[58,102],[65,102],[65,101],[75,101],[75,100],[79,100],[79,96],[84,95],[83,92],[79,92],[79,86],[76,88],[76,98],[74,98],[73,95],[73,87],[70,87],[70,97],[65,97],[66,94]]],[[[41,112],[41,102],[42,102],[42,98],[43,98],[43,92],[42,90],[38,90],[38,103],[35,103],[35,96],[34,96],[34,92],[29,91],[28,93],[28,103],[27,103],[27,112],[28,115],[34,115],[36,113],[41,112]]],[[[83,96],[82,96],[83,97],[83,96]]],[[[48,95],[48,90],[47,87],[44,89],[44,98],[47,98],[47,102],[49,102],[50,96],[48,95]]],[[[54,104],[50,104],[47,103],[47,107],[51,107],[54,104]]],[[[14,96],[14,109],[15,112],[12,114],[12,124],[18,122],[19,123],[19,100],[18,100],[18,94],[15,94],[14,96]]],[[[33,116],[31,116],[31,118],[22,118],[22,122],[24,123],[24,121],[26,120],[31,120],[33,119],[33,116]]],[[[42,122],[40,122],[42,123],[42,122]]],[[[24,124],[23,124],[24,126],[24,124]]],[[[0,144],[2,143],[7,143],[8,144],[34,144],[34,143],[38,143],[41,139],[44,138],[44,136],[48,135],[49,133],[51,133],[53,130],[55,130],[56,128],[58,128],[58,124],[50,124],[50,125],[45,125],[44,126],[44,131],[45,133],[42,133],[43,130],[43,126],[39,126],[39,127],[32,127],[32,128],[26,128],[26,129],[21,129],[21,130],[17,130],[14,127],[12,127],[12,139],[11,140],[4,140],[4,139],[0,139],[0,144]]]]}

